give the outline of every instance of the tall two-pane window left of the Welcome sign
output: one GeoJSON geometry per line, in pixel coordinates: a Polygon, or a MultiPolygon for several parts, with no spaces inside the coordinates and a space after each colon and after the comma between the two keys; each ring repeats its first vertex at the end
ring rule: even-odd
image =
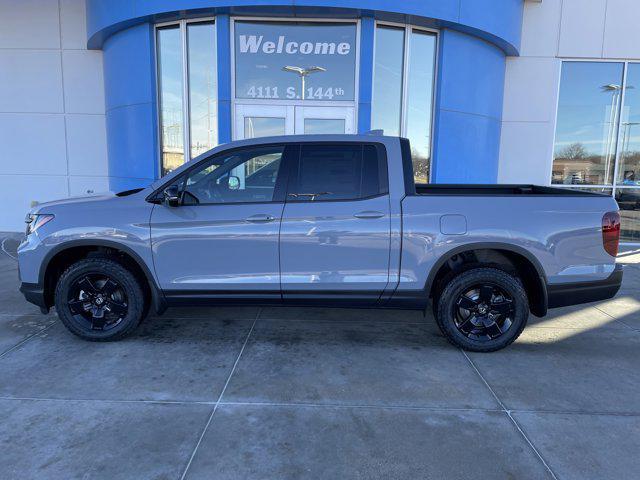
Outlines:
{"type": "Polygon", "coordinates": [[[213,21],[157,28],[162,175],[217,144],[213,21]]]}

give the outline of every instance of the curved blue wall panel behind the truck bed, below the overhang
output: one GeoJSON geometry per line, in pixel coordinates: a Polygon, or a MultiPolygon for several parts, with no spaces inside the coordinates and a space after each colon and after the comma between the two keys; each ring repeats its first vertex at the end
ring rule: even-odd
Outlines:
{"type": "Polygon", "coordinates": [[[495,183],[505,56],[495,46],[443,30],[435,103],[432,180],[495,183]]]}

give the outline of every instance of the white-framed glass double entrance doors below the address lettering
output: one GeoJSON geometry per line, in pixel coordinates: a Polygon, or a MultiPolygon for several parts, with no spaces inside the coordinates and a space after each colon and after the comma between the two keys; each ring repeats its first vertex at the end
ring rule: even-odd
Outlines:
{"type": "Polygon", "coordinates": [[[236,105],[235,140],[277,135],[333,133],[355,133],[353,107],[236,105]]]}

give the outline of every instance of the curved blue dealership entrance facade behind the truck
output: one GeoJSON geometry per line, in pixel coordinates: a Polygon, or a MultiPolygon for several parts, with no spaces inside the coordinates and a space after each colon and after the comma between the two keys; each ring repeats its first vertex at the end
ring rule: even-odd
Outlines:
{"type": "MultiPolygon", "coordinates": [[[[437,183],[494,183],[498,180],[505,60],[508,55],[518,54],[522,11],[523,0],[88,0],[89,47],[101,49],[104,53],[110,188],[116,191],[133,188],[162,174],[163,168],[167,168],[164,163],[170,158],[171,149],[166,145],[170,143],[172,124],[180,128],[176,130],[174,143],[177,147],[171,158],[175,160],[177,156],[179,163],[198,153],[193,147],[194,138],[206,137],[206,134],[189,125],[193,111],[200,108],[194,103],[189,90],[191,84],[185,80],[175,89],[183,94],[181,105],[184,108],[182,111],[177,109],[178,120],[169,119],[169,110],[163,105],[163,102],[167,105],[173,102],[175,95],[172,97],[162,91],[163,88],[169,90],[172,84],[169,76],[160,78],[169,74],[161,69],[159,56],[168,59],[165,65],[169,65],[171,58],[168,47],[167,53],[159,51],[161,42],[158,35],[159,28],[173,28],[175,25],[176,39],[180,35],[183,40],[191,38],[190,32],[185,33],[179,26],[199,25],[198,22],[203,21],[215,25],[212,30],[215,38],[207,43],[215,66],[211,70],[213,78],[208,78],[206,83],[210,96],[214,98],[207,104],[209,117],[215,122],[213,128],[209,125],[208,130],[202,129],[215,130],[210,132],[212,140],[209,146],[243,138],[247,132],[257,135],[255,132],[259,125],[271,111],[295,110],[293,115],[299,116],[304,108],[308,108],[313,112],[311,116],[325,120],[321,128],[341,125],[339,128],[349,133],[366,132],[387,124],[387,114],[393,117],[394,105],[397,105],[400,115],[398,129],[394,132],[385,128],[385,132],[408,136],[412,143],[412,136],[419,138],[417,144],[423,141],[426,153],[421,158],[428,162],[425,178],[437,183]],[[258,70],[266,69],[268,62],[273,60],[265,54],[277,54],[283,46],[288,48],[289,43],[284,44],[285,34],[289,35],[287,38],[294,38],[295,35],[304,35],[305,28],[311,32],[315,25],[326,25],[326,36],[318,37],[319,40],[316,38],[316,43],[291,43],[292,51],[298,47],[302,51],[308,43],[310,53],[314,53],[311,49],[315,45],[315,53],[327,53],[321,52],[322,48],[331,48],[329,53],[333,53],[337,48],[338,54],[344,54],[344,58],[336,57],[337,60],[353,58],[348,60],[355,63],[353,96],[345,102],[322,103],[319,99],[322,95],[333,95],[333,87],[329,92],[320,86],[315,92],[313,88],[308,90],[312,98],[316,95],[315,101],[309,97],[305,99],[304,80],[311,82],[313,79],[322,85],[321,82],[330,78],[335,69],[332,72],[323,67],[324,64],[318,64],[310,68],[320,73],[310,75],[313,72],[309,65],[300,67],[283,63],[282,70],[298,69],[295,71],[303,81],[302,97],[298,89],[291,87],[289,100],[275,98],[281,94],[275,94],[278,86],[274,83],[274,86],[265,86],[268,93],[260,93],[260,100],[256,100],[256,86],[249,82],[247,85],[250,85],[254,98],[240,98],[242,92],[239,93],[238,86],[242,79],[239,77],[245,74],[241,73],[239,65],[245,60],[238,56],[238,42],[251,42],[252,38],[238,37],[240,29],[237,22],[245,19],[250,20],[247,25],[243,24],[247,32],[253,27],[259,31],[263,24],[283,32],[280,45],[276,45],[276,41],[271,45],[265,40],[266,43],[258,47],[262,49],[260,56],[256,57],[258,70]],[[298,30],[294,32],[286,22],[295,23],[298,30]],[[349,40],[329,41],[332,35],[339,36],[335,33],[338,32],[335,27],[342,24],[339,22],[355,25],[353,31],[357,38],[353,49],[349,40]],[[384,28],[389,31],[380,32],[384,28]],[[402,32],[404,40],[400,37],[402,32]],[[427,43],[416,41],[410,53],[403,50],[396,56],[390,50],[391,44],[382,41],[386,37],[377,37],[380,33],[389,34],[390,39],[397,33],[400,49],[403,41],[406,49],[410,48],[413,40],[409,36],[414,33],[430,35],[429,39],[417,40],[432,41],[432,67],[420,67],[431,65],[429,59],[432,54],[421,47],[427,43]],[[399,74],[392,68],[396,63],[399,74]],[[396,84],[399,92],[397,102],[391,94],[396,84]],[[387,94],[389,98],[383,98],[387,94]],[[421,101],[428,107],[414,112],[413,106],[421,101]],[[425,113],[427,110],[430,110],[428,115],[425,113]],[[242,117],[247,111],[250,113],[242,117]],[[336,118],[332,117],[333,111],[336,118]],[[181,117],[183,112],[184,117],[181,117]],[[243,128],[250,130],[241,131],[243,128]]],[[[253,38],[262,41],[262,36],[253,38]]],[[[184,56],[191,55],[189,46],[180,43],[179,47],[184,56]]],[[[251,53],[253,47],[244,45],[244,48],[251,53]]],[[[309,58],[312,57],[310,55],[309,58]]],[[[197,58],[193,54],[194,61],[197,58]]],[[[328,56],[323,58],[329,62],[328,56]]],[[[313,61],[317,63],[318,59],[321,57],[316,56],[313,61]]],[[[188,78],[193,72],[186,60],[183,63],[186,65],[184,78],[188,78]]],[[[170,72],[169,67],[166,71],[170,72]]],[[[282,74],[272,75],[273,78],[276,76],[282,74]]],[[[344,80],[343,77],[347,75],[341,75],[339,83],[344,82],[350,87],[352,80],[344,80]]],[[[287,78],[294,79],[294,76],[287,78]]],[[[336,91],[341,94],[345,91],[342,83],[336,91]]],[[[316,125],[311,117],[303,120],[304,129],[316,125]]],[[[292,127],[286,124],[285,133],[302,133],[296,126],[298,123],[292,122],[292,127]]],[[[285,128],[284,120],[282,125],[285,128]]],[[[264,131],[272,130],[267,128],[264,131]]],[[[419,156],[419,152],[416,155],[419,156]]]]}

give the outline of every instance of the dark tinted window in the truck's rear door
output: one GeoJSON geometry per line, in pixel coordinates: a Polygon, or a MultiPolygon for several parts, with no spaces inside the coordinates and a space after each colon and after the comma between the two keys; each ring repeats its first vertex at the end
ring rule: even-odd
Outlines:
{"type": "Polygon", "coordinates": [[[303,145],[289,198],[357,200],[388,193],[386,168],[382,146],[303,145]]]}

